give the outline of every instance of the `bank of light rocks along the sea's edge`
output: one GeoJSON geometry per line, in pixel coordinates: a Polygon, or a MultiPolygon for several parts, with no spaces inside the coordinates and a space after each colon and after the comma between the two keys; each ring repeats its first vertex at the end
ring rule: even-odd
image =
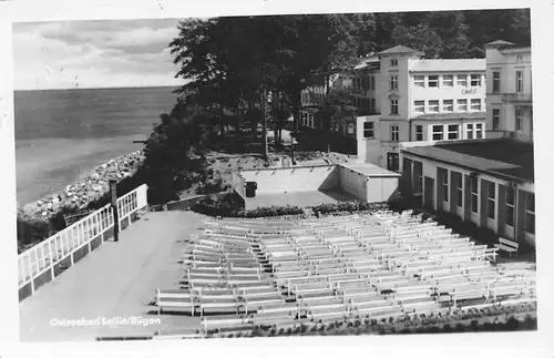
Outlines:
{"type": "Polygon", "coordinates": [[[23,212],[32,217],[50,219],[62,208],[69,212],[85,209],[89,204],[100,200],[110,192],[110,181],[120,182],[133,176],[144,161],[142,151],[133,152],[109,161],[98,166],[92,173],[72,185],[68,185],[62,193],[47,196],[34,203],[27,204],[23,212]]]}

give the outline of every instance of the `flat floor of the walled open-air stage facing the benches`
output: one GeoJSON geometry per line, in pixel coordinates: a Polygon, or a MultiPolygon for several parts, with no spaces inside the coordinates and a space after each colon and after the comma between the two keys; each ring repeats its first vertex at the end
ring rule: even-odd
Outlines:
{"type": "Polygon", "coordinates": [[[332,204],[338,202],[353,201],[356,197],[345,192],[288,192],[288,193],[261,193],[255,197],[246,198],[246,208],[268,206],[315,206],[320,204],[332,204]]]}

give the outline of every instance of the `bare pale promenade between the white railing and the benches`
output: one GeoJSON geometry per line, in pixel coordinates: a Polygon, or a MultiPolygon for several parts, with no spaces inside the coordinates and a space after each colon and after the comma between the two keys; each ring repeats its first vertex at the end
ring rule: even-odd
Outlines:
{"type": "MultiPolygon", "coordinates": [[[[181,239],[201,228],[191,212],[148,213],[120,235],[20,304],[22,341],[91,340],[99,336],[145,335],[198,324],[186,316],[148,315],[156,288],[178,288],[181,239]],[[52,319],[160,318],[148,326],[60,327],[52,319]]],[[[144,321],[144,320],[143,320],[144,321]]],[[[196,328],[196,327],[194,327],[196,328]]]]}

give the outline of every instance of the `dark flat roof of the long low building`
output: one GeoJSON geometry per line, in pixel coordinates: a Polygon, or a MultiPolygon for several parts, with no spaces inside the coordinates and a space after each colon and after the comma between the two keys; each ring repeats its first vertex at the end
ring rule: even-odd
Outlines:
{"type": "Polygon", "coordinates": [[[439,142],[402,151],[504,180],[534,182],[533,143],[509,139],[439,142]]]}

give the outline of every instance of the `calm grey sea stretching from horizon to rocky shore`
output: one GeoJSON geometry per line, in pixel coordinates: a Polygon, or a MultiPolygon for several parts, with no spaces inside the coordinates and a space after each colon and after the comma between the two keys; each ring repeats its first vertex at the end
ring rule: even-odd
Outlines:
{"type": "Polygon", "coordinates": [[[143,149],[175,88],[16,91],[19,205],[63,190],[110,158],[143,149]]]}

